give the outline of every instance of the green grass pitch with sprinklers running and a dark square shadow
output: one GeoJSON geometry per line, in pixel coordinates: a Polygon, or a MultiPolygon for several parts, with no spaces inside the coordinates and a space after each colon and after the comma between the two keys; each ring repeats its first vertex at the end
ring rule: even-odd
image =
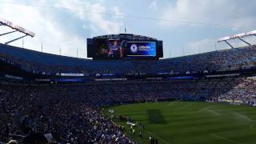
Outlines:
{"type": "Polygon", "coordinates": [[[124,132],[139,143],[150,143],[149,137],[158,143],[170,144],[238,144],[256,143],[256,108],[230,106],[208,102],[154,102],[106,107],[104,114],[126,114],[134,122],[146,127],[134,126],[131,134],[126,122],[124,132]],[[138,132],[142,131],[142,139],[138,132]]]}

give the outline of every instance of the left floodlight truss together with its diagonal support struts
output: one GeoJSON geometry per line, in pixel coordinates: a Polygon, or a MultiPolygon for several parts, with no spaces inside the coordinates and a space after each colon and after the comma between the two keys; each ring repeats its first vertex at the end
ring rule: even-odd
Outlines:
{"type": "Polygon", "coordinates": [[[12,31],[0,34],[0,37],[4,36],[6,34],[15,33],[15,32],[20,32],[22,34],[25,34],[25,35],[22,35],[21,37],[14,38],[8,42],[5,42],[6,45],[8,45],[10,42],[17,41],[18,39],[25,38],[26,36],[30,36],[31,38],[34,38],[34,36],[35,36],[34,32],[32,32],[30,30],[26,30],[22,26],[15,25],[13,22],[7,21],[6,19],[3,19],[3,18],[0,18],[0,26],[8,26],[12,29],[12,31]]]}

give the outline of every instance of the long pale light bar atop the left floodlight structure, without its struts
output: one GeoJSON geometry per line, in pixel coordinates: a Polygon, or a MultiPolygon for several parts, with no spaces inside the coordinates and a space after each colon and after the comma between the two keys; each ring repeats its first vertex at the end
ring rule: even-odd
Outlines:
{"type": "Polygon", "coordinates": [[[19,32],[29,35],[30,37],[34,37],[34,32],[31,32],[30,30],[26,30],[22,26],[15,25],[13,22],[7,21],[6,19],[0,18],[0,24],[3,26],[8,26],[14,30],[18,30],[19,32]]]}

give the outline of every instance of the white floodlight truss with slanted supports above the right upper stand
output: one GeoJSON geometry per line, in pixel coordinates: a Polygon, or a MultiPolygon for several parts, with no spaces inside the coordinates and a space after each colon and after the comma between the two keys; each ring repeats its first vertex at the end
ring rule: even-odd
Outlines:
{"type": "Polygon", "coordinates": [[[245,33],[241,33],[241,34],[235,34],[235,35],[231,35],[231,36],[228,36],[228,37],[224,37],[224,38],[218,38],[217,39],[217,42],[226,42],[226,44],[228,44],[231,48],[234,48],[234,46],[232,46],[230,44],[230,42],[227,42],[231,39],[239,39],[240,41],[246,43],[247,45],[251,46],[250,42],[246,42],[244,39],[244,37],[247,37],[247,36],[256,36],[256,30],[254,31],[249,31],[249,32],[245,32],[245,33]]]}

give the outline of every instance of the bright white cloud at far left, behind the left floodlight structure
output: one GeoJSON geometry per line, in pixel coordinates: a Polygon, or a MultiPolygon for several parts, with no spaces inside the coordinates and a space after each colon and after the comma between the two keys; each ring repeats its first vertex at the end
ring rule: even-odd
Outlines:
{"type": "MultiPolygon", "coordinates": [[[[34,38],[25,38],[25,47],[28,49],[41,51],[42,44],[43,52],[59,54],[59,45],[62,45],[63,55],[76,56],[76,48],[80,46],[80,51],[85,53],[85,38],[81,38],[77,34],[70,36],[60,28],[58,22],[52,21],[48,15],[43,14],[38,8],[3,4],[0,12],[0,17],[9,19],[18,26],[23,26],[35,32],[36,36],[34,38]]],[[[18,34],[5,37],[2,42],[13,38],[18,38],[18,34]]],[[[21,42],[17,41],[11,43],[11,45],[21,46],[21,42]]],[[[84,55],[82,55],[82,58],[85,58],[84,55]]]]}

